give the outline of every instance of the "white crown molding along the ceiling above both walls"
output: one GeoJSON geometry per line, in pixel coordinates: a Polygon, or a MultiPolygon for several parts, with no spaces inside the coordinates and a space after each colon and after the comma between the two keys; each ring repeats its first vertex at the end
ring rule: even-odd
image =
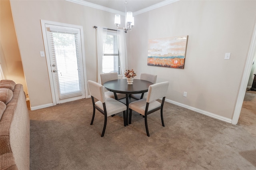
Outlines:
{"type": "MultiPolygon", "coordinates": [[[[118,10],[107,8],[105,6],[93,4],[91,2],[86,2],[86,1],[83,1],[83,0],[66,0],[66,1],[73,2],[73,3],[76,3],[76,4],[80,4],[80,5],[84,5],[84,6],[88,6],[88,7],[91,7],[91,8],[96,8],[98,10],[103,10],[103,11],[106,11],[106,12],[111,12],[111,13],[114,13],[114,14],[120,14],[122,16],[125,16],[125,12],[121,12],[121,11],[118,11],[118,10]]],[[[154,10],[156,8],[160,8],[162,6],[165,6],[165,5],[168,5],[168,4],[172,4],[172,3],[177,2],[177,1],[179,1],[179,0],[165,0],[163,2],[160,2],[158,4],[149,6],[147,8],[142,9],[142,10],[138,10],[136,12],[133,12],[132,14],[133,14],[133,16],[136,16],[138,14],[142,14],[144,12],[148,12],[150,10],[154,10]]]]}

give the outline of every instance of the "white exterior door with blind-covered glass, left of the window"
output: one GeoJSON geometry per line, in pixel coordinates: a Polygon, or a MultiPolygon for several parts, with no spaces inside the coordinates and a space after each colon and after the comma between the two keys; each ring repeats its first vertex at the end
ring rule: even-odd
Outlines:
{"type": "Polygon", "coordinates": [[[47,23],[43,26],[53,104],[85,98],[80,29],[47,23]]]}

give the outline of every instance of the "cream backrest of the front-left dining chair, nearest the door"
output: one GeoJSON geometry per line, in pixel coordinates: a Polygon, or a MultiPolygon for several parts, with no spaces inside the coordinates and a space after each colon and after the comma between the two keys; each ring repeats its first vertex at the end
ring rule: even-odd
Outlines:
{"type": "Polygon", "coordinates": [[[88,80],[88,87],[92,97],[95,97],[102,103],[105,103],[105,91],[104,87],[100,83],[88,80]]]}

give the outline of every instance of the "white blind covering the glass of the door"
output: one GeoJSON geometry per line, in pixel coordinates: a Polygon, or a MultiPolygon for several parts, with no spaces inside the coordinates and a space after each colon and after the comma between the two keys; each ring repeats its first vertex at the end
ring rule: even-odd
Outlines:
{"type": "Polygon", "coordinates": [[[56,57],[59,98],[82,95],[76,32],[50,28],[56,57]]]}

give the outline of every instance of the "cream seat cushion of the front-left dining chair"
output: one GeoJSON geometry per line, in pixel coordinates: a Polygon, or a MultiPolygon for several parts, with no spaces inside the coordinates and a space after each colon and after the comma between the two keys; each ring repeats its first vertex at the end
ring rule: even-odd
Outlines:
{"type": "MultiPolygon", "coordinates": [[[[111,116],[126,110],[126,105],[124,103],[121,103],[120,101],[117,101],[112,98],[107,98],[105,104],[107,116],[111,116]]],[[[97,101],[95,105],[98,106],[102,111],[104,111],[103,104],[101,101],[97,101]]]]}

